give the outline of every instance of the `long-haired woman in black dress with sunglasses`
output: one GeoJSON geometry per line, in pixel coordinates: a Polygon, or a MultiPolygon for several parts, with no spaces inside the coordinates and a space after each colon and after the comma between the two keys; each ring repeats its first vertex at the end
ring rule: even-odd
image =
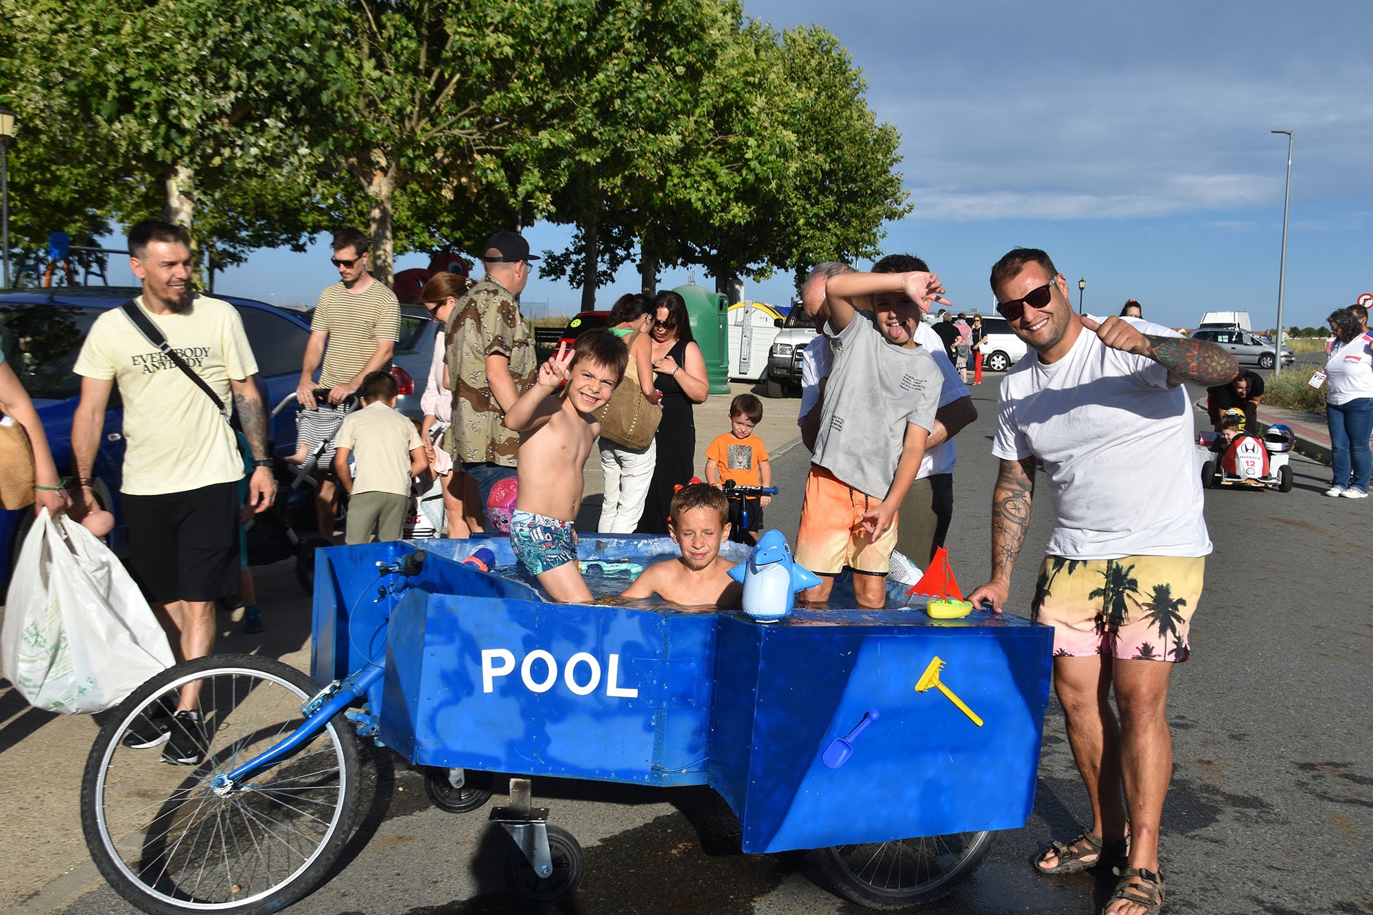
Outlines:
{"type": "Polygon", "coordinates": [[[696,466],[696,426],[692,404],[706,403],[710,379],[706,357],[692,338],[686,302],[677,293],[659,293],[654,310],[651,354],[655,387],[662,392],[663,419],[654,442],[658,463],[648,484],[637,533],[667,533],[673,486],[685,486],[696,466]]]}

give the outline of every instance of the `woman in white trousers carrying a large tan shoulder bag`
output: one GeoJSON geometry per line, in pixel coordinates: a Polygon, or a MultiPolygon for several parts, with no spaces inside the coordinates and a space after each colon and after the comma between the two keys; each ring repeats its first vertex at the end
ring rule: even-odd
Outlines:
{"type": "Polygon", "coordinates": [[[654,438],[663,411],[654,389],[654,300],[643,293],[621,295],[610,310],[610,332],[629,348],[629,365],[608,404],[599,411],[601,474],[605,495],[600,533],[634,533],[644,497],[654,478],[658,445],[654,438]]]}

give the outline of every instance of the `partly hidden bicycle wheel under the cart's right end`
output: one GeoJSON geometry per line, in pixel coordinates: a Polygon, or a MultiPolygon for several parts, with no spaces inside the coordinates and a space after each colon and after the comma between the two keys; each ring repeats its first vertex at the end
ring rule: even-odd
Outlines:
{"type": "Polygon", "coordinates": [[[894,842],[835,845],[813,852],[847,900],[894,910],[934,901],[967,879],[991,848],[991,833],[954,833],[894,842]]]}

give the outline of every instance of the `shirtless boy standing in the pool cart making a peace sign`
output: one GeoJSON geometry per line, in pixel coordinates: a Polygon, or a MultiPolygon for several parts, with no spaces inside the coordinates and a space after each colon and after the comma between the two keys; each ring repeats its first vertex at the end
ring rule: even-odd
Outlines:
{"type": "Polygon", "coordinates": [[[577,349],[559,346],[534,386],[505,412],[519,437],[519,495],[511,547],[530,574],[562,603],[590,603],[577,566],[573,522],[582,504],[582,467],[600,434],[596,411],[625,374],[629,350],[605,331],[588,331],[577,349]],[[557,387],[567,382],[562,396],[557,387]]]}

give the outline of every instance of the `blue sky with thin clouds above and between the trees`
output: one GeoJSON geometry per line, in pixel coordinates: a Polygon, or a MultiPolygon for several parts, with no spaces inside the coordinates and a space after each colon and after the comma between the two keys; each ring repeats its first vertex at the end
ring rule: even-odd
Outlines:
{"type": "MultiPolygon", "coordinates": [[[[883,250],[924,257],[960,306],[987,309],[991,264],[1026,245],[1071,286],[1086,279],[1089,312],[1134,297],[1166,324],[1215,308],[1271,327],[1287,169],[1273,128],[1296,133],[1284,323],[1318,326],[1373,293],[1365,0],[746,0],[746,11],[778,29],[820,23],[850,49],[869,106],[903,137],[914,212],[886,227],[883,250]]],[[[560,250],[568,231],[526,235],[560,250]]],[[[313,302],[336,279],[328,256],[324,242],[261,251],[218,289],[313,302]]],[[[406,256],[398,269],[427,261],[406,256]]],[[[663,284],[686,279],[669,271],[663,284]]],[[[637,282],[630,265],[601,298],[637,282]]],[[[792,293],[789,276],[746,283],[758,301],[792,293]]],[[[523,298],[556,313],[575,310],[579,291],[535,278],[523,298]]]]}

